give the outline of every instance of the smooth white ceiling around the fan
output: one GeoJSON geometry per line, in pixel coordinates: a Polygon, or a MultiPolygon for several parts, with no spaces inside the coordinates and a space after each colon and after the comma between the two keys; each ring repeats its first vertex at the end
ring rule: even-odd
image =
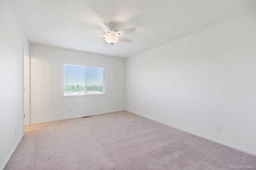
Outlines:
{"type": "Polygon", "coordinates": [[[130,57],[256,10],[256,0],[6,0],[30,43],[130,57]],[[105,44],[97,21],[131,43],[105,44]]]}

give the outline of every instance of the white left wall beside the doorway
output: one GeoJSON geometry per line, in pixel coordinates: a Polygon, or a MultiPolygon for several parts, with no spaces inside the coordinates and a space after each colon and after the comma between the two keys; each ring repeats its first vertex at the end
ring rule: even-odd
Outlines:
{"type": "Polygon", "coordinates": [[[23,136],[23,47],[29,52],[20,25],[0,0],[0,170],[23,136]]]}

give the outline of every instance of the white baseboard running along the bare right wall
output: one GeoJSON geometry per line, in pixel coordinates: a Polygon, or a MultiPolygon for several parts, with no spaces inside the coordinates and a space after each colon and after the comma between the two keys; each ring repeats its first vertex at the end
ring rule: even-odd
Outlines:
{"type": "Polygon", "coordinates": [[[154,119],[154,118],[152,118],[152,117],[148,117],[148,116],[145,116],[145,115],[136,113],[136,112],[134,112],[134,111],[130,111],[130,110],[127,110],[127,109],[126,109],[126,111],[129,111],[129,112],[134,113],[134,114],[136,114],[136,115],[140,115],[140,116],[142,116],[142,117],[146,117],[146,118],[151,119],[151,120],[153,120],[153,121],[157,121],[157,122],[162,123],[162,124],[164,124],[164,125],[168,125],[168,126],[170,126],[170,127],[174,127],[174,128],[176,128],[176,129],[179,129],[179,130],[181,130],[181,131],[190,133],[190,134],[192,134],[192,135],[196,135],[196,136],[198,136],[198,137],[202,137],[202,138],[204,138],[204,139],[213,141],[213,142],[215,142],[215,143],[224,145],[224,146],[226,146],[226,147],[230,147],[230,148],[239,150],[239,151],[241,151],[241,152],[245,152],[245,153],[247,153],[247,154],[256,156],[256,153],[255,153],[255,152],[252,152],[252,151],[247,150],[247,149],[243,149],[243,148],[241,148],[241,147],[237,147],[237,146],[232,145],[232,144],[230,144],[230,143],[226,143],[226,142],[223,142],[223,141],[219,141],[219,140],[216,140],[216,139],[214,139],[214,138],[211,138],[211,137],[208,137],[208,136],[199,134],[199,133],[195,133],[195,132],[189,131],[189,130],[187,130],[187,129],[183,129],[183,128],[177,127],[177,126],[175,126],[175,125],[171,125],[171,124],[169,124],[169,123],[160,121],[160,120],[158,120],[158,119],[154,119]]]}

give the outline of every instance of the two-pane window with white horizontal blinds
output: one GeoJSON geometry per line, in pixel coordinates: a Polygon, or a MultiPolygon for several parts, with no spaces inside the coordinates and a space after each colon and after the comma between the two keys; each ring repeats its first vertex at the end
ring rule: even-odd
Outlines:
{"type": "Polygon", "coordinates": [[[64,64],[64,96],[104,94],[104,67],[64,64]]]}

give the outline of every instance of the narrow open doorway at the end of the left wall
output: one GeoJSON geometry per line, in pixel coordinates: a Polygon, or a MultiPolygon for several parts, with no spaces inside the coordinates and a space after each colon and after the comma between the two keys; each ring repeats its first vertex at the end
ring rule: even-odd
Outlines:
{"type": "Polygon", "coordinates": [[[30,57],[24,51],[23,125],[30,125],[30,57]]]}

